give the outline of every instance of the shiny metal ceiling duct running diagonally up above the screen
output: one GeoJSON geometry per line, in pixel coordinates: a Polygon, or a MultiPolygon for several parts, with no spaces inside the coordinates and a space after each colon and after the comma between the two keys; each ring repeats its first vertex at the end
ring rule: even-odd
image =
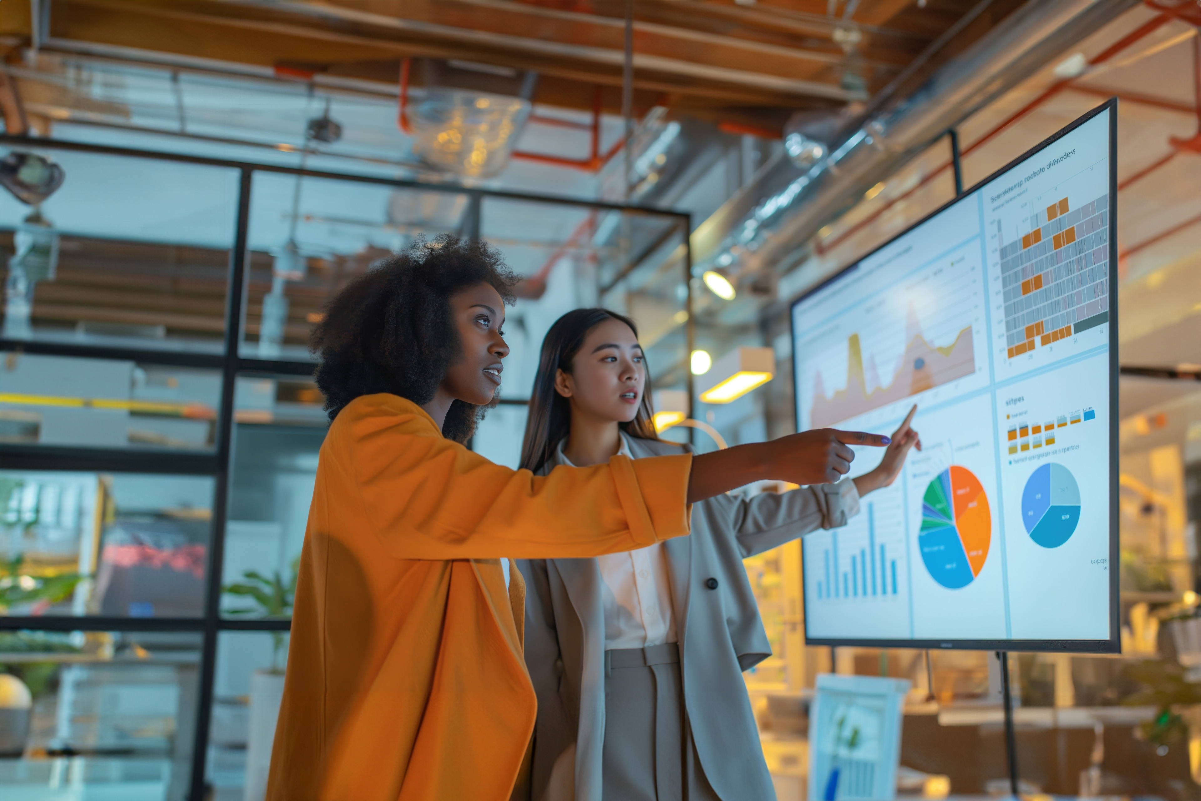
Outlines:
{"type": "Polygon", "coordinates": [[[777,155],[692,234],[694,274],[791,267],[796,249],[882,177],[1137,2],[1029,0],[916,91],[841,131],[811,167],[777,155]]]}

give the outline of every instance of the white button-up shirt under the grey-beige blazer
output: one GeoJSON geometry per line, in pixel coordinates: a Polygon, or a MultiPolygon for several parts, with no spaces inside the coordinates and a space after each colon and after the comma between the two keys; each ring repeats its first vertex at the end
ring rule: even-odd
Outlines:
{"type": "MultiPolygon", "coordinates": [[[[558,443],[558,464],[574,467],[558,443]]],[[[622,456],[633,456],[621,435],[622,456]]],[[[604,602],[604,647],[643,648],[676,641],[671,578],[663,543],[597,557],[604,602]]]]}

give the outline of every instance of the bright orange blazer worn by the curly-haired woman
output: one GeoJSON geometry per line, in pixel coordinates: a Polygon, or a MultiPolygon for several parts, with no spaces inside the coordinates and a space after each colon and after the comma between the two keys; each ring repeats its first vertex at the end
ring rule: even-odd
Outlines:
{"type": "MultiPolygon", "coordinates": [[[[366,395],[321,448],[269,801],[506,801],[537,711],[525,585],[501,558],[688,533],[691,456],[494,465],[416,404],[366,395]]],[[[510,563],[512,564],[512,563],[510,563]]]]}

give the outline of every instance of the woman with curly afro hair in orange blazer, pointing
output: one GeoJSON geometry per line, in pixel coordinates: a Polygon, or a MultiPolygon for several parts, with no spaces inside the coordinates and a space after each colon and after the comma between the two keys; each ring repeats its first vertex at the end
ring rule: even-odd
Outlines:
{"type": "Polygon", "coordinates": [[[496,402],[513,274],[443,237],[340,292],[313,334],[333,420],[300,557],[270,801],[504,801],[536,698],[513,558],[597,556],[688,532],[687,504],[854,458],[817,431],[546,477],[461,443],[496,402]]]}

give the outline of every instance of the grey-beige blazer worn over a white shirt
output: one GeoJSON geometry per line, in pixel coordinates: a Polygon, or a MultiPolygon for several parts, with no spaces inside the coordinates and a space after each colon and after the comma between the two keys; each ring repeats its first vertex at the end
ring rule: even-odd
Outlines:
{"type": "MultiPolygon", "coordinates": [[[[681,453],[635,437],[629,447],[635,460],[681,453]]],[[[721,495],[693,504],[689,537],[664,543],[685,706],[705,776],[722,799],[776,797],[741,675],[771,656],[742,560],[844,526],[858,513],[850,480],[749,500],[721,495]]],[[[600,801],[605,628],[597,560],[518,560],[518,567],[528,587],[525,658],[538,697],[530,797],[600,801]]]]}

